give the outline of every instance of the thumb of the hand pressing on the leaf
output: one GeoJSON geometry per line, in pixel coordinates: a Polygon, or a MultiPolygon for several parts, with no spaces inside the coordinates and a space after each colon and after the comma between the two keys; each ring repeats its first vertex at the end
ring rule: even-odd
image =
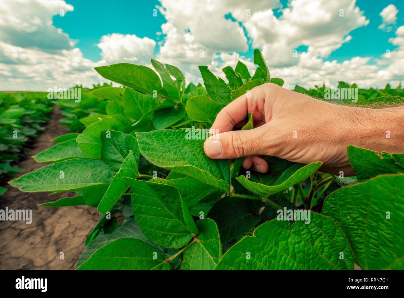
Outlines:
{"type": "Polygon", "coordinates": [[[240,158],[262,154],[263,126],[252,130],[222,132],[208,138],[204,143],[206,155],[213,159],[240,158]]]}

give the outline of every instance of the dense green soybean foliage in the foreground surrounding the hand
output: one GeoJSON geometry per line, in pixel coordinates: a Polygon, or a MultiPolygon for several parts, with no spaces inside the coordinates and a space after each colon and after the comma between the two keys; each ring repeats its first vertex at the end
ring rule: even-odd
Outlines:
{"type": "MultiPolygon", "coordinates": [[[[10,184],[26,192],[76,192],[42,206],[86,204],[103,213],[88,233],[79,270],[353,270],[354,262],[403,269],[404,155],[379,158],[349,146],[357,176],[337,177],[319,172],[320,161],[265,156],[269,171],[261,174],[242,168],[242,159],[230,164],[204,154],[223,106],[261,84],[283,85],[270,78],[257,49],[254,63],[252,77],[242,62],[223,68],[228,83],[200,66],[204,87],[186,85],[178,68],[156,60],[160,76],[133,64],[98,67],[123,86],[79,87],[80,102],[55,100],[66,117],[61,124],[76,133],[34,157],[53,164],[10,184]],[[119,224],[118,217],[126,219],[119,224]]],[[[326,95],[324,86],[295,91],[326,95]]],[[[356,104],[400,95],[400,86],[359,89],[356,104]]],[[[13,104],[7,125],[21,117],[13,104]]],[[[253,118],[242,130],[253,129],[253,118]]]]}

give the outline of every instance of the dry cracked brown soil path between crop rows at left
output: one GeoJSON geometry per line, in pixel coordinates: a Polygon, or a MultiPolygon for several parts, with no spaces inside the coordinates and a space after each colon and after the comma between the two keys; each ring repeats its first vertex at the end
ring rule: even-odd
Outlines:
{"type": "MultiPolygon", "coordinates": [[[[51,140],[68,131],[59,126],[63,117],[59,109],[52,112],[46,130],[34,140],[27,158],[19,167],[26,170],[17,178],[48,164],[36,162],[31,156],[55,145],[51,140]]],[[[11,180],[11,179],[10,179],[11,180]]],[[[48,193],[27,193],[10,185],[0,196],[0,209],[32,209],[32,224],[25,221],[0,221],[0,270],[67,270],[74,269],[88,232],[95,226],[99,213],[94,207],[41,207],[44,202],[73,196],[74,193],[48,196],[48,193]],[[60,253],[64,260],[60,260],[60,253]]]]}

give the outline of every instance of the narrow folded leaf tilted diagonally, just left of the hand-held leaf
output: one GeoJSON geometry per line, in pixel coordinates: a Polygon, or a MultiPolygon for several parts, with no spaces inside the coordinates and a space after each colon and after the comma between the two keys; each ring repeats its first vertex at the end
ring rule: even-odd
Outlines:
{"type": "Polygon", "coordinates": [[[105,192],[97,210],[99,213],[107,213],[116,202],[123,196],[128,189],[128,184],[123,177],[130,177],[136,179],[138,177],[137,167],[139,166],[139,151],[135,156],[132,151],[126,156],[124,162],[118,173],[114,176],[109,185],[107,192],[105,192]]]}

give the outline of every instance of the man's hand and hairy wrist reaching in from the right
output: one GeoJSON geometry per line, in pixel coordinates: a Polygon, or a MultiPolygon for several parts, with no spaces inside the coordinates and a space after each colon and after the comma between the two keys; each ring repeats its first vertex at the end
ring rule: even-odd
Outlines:
{"type": "Polygon", "coordinates": [[[266,83],[219,112],[212,126],[217,134],[205,141],[204,151],[213,159],[245,157],[243,168],[261,173],[268,164],[259,155],[271,155],[303,164],[320,160],[321,171],[351,176],[347,145],[402,152],[403,118],[403,107],[343,106],[266,83]],[[249,113],[254,129],[234,130],[244,126],[249,113]],[[396,138],[386,140],[386,130],[395,130],[396,138]]]}

